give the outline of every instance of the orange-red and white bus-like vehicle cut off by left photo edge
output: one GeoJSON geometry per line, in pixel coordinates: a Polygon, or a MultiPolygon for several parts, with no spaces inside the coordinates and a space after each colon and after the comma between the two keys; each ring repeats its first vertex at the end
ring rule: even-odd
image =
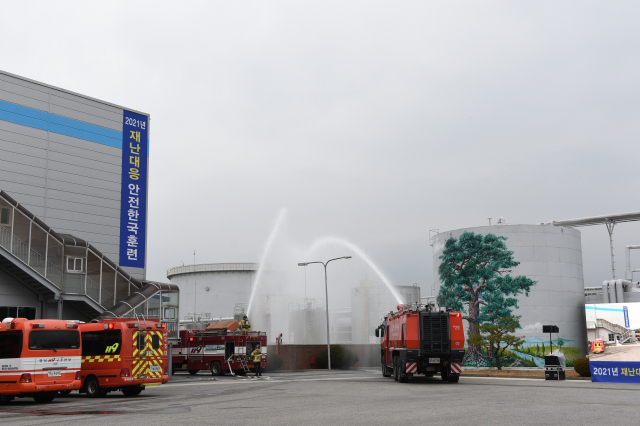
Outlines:
{"type": "Polygon", "coordinates": [[[51,402],[80,388],[78,324],[5,318],[0,324],[0,402],[32,397],[51,402]]]}

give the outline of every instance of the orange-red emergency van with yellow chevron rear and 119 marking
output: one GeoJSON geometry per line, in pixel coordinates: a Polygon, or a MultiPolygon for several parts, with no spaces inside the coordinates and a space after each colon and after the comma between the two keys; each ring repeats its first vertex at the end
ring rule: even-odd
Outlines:
{"type": "Polygon", "coordinates": [[[95,398],[121,390],[139,395],[169,381],[168,338],[157,320],[115,318],[80,324],[82,389],[95,398]]]}

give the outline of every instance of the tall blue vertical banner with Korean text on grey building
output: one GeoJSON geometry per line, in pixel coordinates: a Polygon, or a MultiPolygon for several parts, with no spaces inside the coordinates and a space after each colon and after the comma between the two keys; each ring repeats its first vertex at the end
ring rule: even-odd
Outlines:
{"type": "Polygon", "coordinates": [[[120,192],[120,266],[144,268],[149,119],[124,111],[120,192]]]}

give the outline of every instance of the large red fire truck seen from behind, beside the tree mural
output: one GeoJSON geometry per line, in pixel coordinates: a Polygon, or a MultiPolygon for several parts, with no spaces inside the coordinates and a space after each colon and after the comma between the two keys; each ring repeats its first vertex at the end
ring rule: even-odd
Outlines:
{"type": "Polygon", "coordinates": [[[464,330],[459,312],[442,312],[419,303],[398,305],[375,330],[381,341],[382,375],[405,383],[409,377],[440,373],[442,380],[460,379],[464,330]]]}

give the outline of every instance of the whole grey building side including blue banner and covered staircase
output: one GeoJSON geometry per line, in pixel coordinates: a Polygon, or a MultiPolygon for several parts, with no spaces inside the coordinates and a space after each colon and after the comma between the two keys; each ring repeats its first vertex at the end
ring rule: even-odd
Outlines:
{"type": "Polygon", "coordinates": [[[79,311],[59,315],[91,315],[146,279],[149,126],[148,114],[0,71],[0,313],[54,317],[45,306],[66,298],[79,311]]]}

